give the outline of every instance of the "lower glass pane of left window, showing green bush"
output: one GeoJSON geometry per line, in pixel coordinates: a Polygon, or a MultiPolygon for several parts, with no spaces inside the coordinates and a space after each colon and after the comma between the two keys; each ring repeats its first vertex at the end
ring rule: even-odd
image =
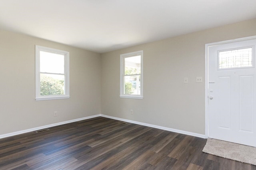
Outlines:
{"type": "Polygon", "coordinates": [[[65,94],[65,76],[58,74],[40,74],[40,95],[65,94]]]}

